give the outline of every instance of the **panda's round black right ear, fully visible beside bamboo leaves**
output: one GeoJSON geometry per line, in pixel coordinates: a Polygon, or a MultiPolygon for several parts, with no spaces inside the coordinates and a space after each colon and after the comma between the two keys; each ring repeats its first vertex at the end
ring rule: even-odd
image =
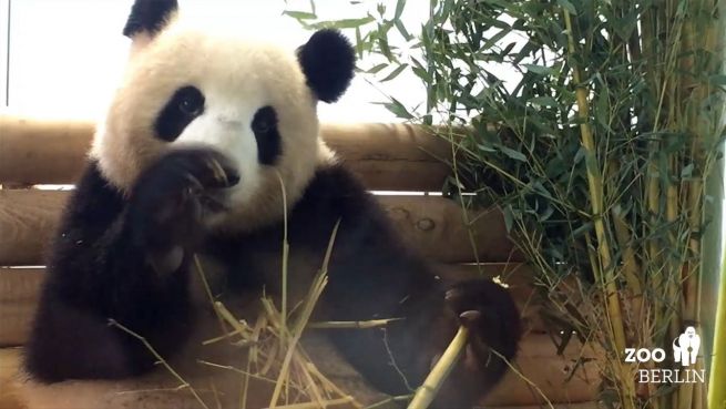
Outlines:
{"type": "Polygon", "coordinates": [[[337,30],[317,31],[297,50],[308,86],[320,101],[335,102],[348,89],[356,68],[350,42],[337,30]]]}

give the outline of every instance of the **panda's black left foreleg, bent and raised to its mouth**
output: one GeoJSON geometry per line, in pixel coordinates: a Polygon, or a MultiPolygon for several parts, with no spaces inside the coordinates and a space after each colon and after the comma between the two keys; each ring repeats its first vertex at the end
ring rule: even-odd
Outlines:
{"type": "Polygon", "coordinates": [[[25,367],[37,379],[122,378],[153,367],[190,331],[188,269],[212,194],[237,182],[209,150],[174,151],[144,171],[130,198],[95,165],[76,186],[48,266],[25,367]]]}

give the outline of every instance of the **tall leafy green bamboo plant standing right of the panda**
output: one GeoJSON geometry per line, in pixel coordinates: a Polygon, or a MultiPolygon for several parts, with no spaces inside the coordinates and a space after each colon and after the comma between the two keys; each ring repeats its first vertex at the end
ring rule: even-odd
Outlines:
{"type": "Polygon", "coordinates": [[[671,351],[686,326],[704,334],[710,319],[702,282],[717,273],[702,262],[718,256],[704,248],[719,248],[704,237],[719,237],[705,211],[719,197],[705,182],[724,139],[723,7],[430,0],[420,30],[401,22],[405,1],[339,21],[317,19],[314,7],[287,14],[350,30],[371,81],[406,71],[420,79],[426,104],[388,95],[386,106],[451,143],[447,195],[502,209],[551,305],[558,342],[574,334],[605,351],[599,400],[667,409],[705,408],[706,384],[641,384],[638,369],[674,362],[630,364],[623,354],[671,351]],[[563,290],[566,279],[576,289],[563,290]]]}

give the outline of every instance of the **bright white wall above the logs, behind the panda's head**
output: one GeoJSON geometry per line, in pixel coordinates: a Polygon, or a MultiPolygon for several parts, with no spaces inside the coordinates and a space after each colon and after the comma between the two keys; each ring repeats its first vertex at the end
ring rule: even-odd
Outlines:
{"type": "MultiPolygon", "coordinates": [[[[11,0],[10,106],[19,114],[45,117],[92,119],[103,112],[105,101],[120,76],[129,40],[121,34],[132,0],[11,0]]],[[[0,0],[0,32],[8,0],[0,0]],[[4,6],[4,8],[3,8],[4,6]]],[[[396,1],[384,1],[390,11],[396,1]]],[[[183,12],[214,23],[234,24],[241,32],[265,33],[290,49],[310,35],[283,11],[309,10],[308,0],[180,0],[183,12]]],[[[365,16],[367,6],[345,0],[316,0],[324,19],[365,16]]],[[[428,1],[407,4],[406,22],[420,25],[428,1]],[[417,8],[418,7],[418,8],[417,8]],[[418,19],[418,21],[417,21],[418,19]]],[[[410,25],[413,24],[413,25],[410,25]]],[[[6,42],[0,34],[0,54],[6,42]]],[[[3,55],[0,55],[0,67],[3,55]]],[[[367,65],[370,67],[370,65],[367,65]]],[[[0,69],[0,74],[3,73],[0,69]]],[[[4,86],[4,75],[0,78],[4,86]]],[[[381,86],[381,85],[378,85],[381,86]]],[[[425,90],[412,74],[401,74],[382,85],[387,93],[415,106],[425,100],[425,90]]],[[[327,122],[396,121],[385,108],[382,93],[358,75],[348,93],[334,105],[320,104],[327,122]]],[[[0,106],[4,102],[4,90],[0,106]]]]}

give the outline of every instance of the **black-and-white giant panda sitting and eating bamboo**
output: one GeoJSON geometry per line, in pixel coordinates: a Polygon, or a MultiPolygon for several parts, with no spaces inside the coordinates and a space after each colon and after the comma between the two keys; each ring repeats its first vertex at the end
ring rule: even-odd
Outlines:
{"type": "Polygon", "coordinates": [[[260,294],[279,296],[284,232],[293,306],[336,225],[314,318],[398,318],[323,336],[367,387],[411,393],[462,325],[468,346],[434,405],[470,407],[497,384],[520,339],[507,290],[483,279],[444,286],[320,139],[316,105],[354,75],[345,37],[320,30],[285,51],[188,24],[174,0],[136,0],[123,33],[129,65],[54,237],[24,351],[31,409],[198,407],[110,320],[200,390],[209,379],[229,388],[200,392],[209,407],[237,407],[239,377],[197,362],[237,366],[245,352],[200,347],[221,333],[195,259],[214,296],[254,321],[260,294]]]}

